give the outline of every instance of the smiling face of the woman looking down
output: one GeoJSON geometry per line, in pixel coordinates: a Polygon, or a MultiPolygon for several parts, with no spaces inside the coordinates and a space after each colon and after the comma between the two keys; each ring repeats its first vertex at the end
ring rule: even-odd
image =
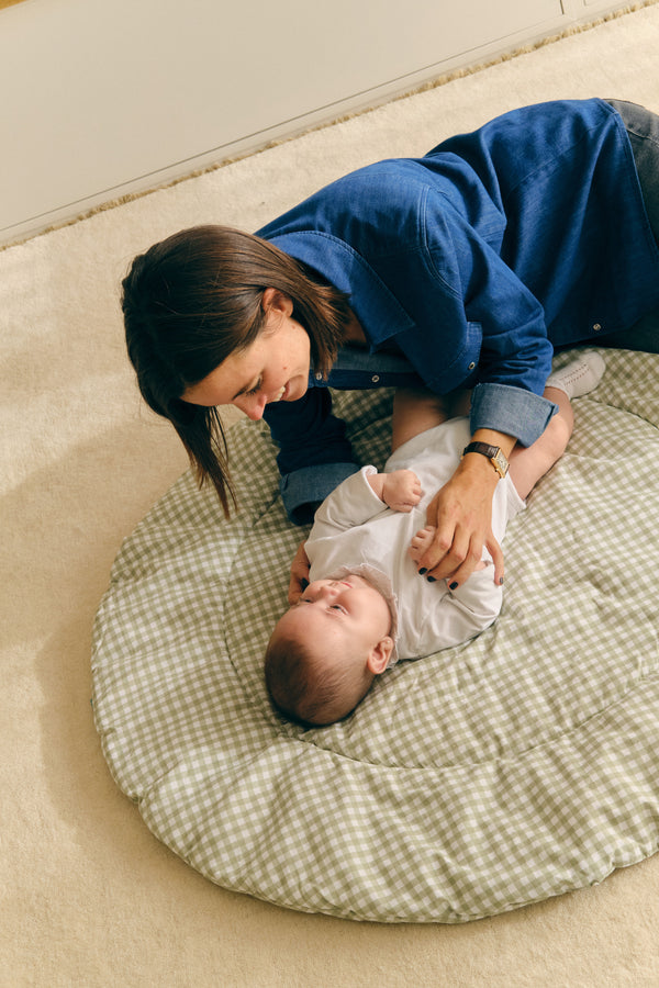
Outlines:
{"type": "Polygon", "coordinates": [[[309,384],[310,341],[291,318],[288,295],[266,289],[266,324],[247,347],[231,353],[220,367],[181,395],[192,405],[235,405],[249,418],[263,418],[269,402],[294,402],[309,384]]]}

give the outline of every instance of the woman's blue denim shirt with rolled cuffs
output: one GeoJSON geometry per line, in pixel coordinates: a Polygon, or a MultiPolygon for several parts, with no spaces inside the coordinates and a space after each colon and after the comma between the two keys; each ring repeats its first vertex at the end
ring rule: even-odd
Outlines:
{"type": "Polygon", "coordinates": [[[540,396],[554,347],[596,344],[659,305],[632,148],[597,99],[526,106],[423,158],[369,165],[258,234],[346,292],[369,341],[357,364],[346,348],[326,381],[311,374],[304,397],[266,408],[299,523],[359,465],[328,386],[474,388],[472,431],[527,446],[555,411],[540,396]]]}

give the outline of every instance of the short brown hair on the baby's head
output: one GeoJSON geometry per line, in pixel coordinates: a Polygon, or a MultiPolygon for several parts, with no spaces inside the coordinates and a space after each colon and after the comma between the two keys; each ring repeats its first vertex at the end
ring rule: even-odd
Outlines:
{"type": "Polygon", "coordinates": [[[367,694],[373,675],[364,672],[362,692],[348,709],[344,692],[350,678],[345,664],[319,662],[294,635],[275,630],[266,650],[266,686],[277,709],[303,726],[323,727],[350,714],[367,694]]]}

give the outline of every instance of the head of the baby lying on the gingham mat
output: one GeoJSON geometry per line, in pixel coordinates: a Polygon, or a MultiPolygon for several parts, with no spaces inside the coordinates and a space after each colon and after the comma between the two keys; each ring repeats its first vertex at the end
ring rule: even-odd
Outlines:
{"type": "Polygon", "coordinates": [[[392,651],[389,605],[368,580],[314,580],[275,626],[266,683],[287,717],[334,723],[355,709],[392,651]]]}

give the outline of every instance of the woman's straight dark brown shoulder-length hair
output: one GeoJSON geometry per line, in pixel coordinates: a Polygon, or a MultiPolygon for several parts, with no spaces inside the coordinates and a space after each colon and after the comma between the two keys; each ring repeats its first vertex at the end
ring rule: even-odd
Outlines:
{"type": "Polygon", "coordinates": [[[230,497],[226,441],[216,408],[181,400],[230,353],[247,349],[264,327],[263,294],[275,288],[293,303],[309,334],[311,361],[327,374],[343,343],[347,296],[273,244],[225,226],[196,226],[137,256],[124,278],[122,308],[129,357],[146,403],[174,425],[200,485],[230,497]]]}

